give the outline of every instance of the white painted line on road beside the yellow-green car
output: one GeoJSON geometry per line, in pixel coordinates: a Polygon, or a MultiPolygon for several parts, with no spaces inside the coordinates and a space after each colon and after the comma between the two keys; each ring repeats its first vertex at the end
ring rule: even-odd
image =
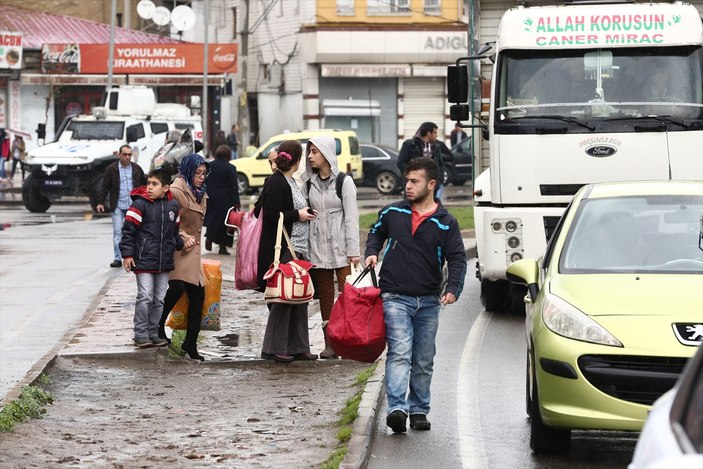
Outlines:
{"type": "Polygon", "coordinates": [[[466,338],[459,362],[456,393],[459,447],[463,467],[472,469],[488,467],[478,403],[478,361],[491,316],[492,313],[485,309],[478,314],[466,338]]]}

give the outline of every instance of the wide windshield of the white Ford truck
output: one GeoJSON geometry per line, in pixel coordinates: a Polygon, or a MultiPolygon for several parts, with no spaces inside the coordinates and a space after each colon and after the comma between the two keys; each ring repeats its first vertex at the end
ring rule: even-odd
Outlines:
{"type": "Polygon", "coordinates": [[[501,55],[496,118],[702,119],[702,75],[700,46],[508,50],[501,55]]]}

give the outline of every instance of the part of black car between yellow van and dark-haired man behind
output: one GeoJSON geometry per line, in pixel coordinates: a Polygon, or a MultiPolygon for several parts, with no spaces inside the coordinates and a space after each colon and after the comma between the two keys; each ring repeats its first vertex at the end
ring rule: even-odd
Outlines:
{"type": "Polygon", "coordinates": [[[359,186],[375,187],[381,194],[401,191],[401,174],[398,169],[398,150],[375,143],[362,143],[361,161],[364,178],[359,186]]]}

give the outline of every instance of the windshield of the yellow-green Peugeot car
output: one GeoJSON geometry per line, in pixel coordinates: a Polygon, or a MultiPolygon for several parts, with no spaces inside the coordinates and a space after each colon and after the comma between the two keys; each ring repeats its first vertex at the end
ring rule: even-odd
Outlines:
{"type": "Polygon", "coordinates": [[[560,257],[562,273],[703,274],[703,197],[584,200],[560,257]]]}

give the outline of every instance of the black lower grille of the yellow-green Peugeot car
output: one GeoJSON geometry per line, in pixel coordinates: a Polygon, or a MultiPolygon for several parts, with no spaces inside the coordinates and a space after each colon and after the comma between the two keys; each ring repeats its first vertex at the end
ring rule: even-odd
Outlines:
{"type": "Polygon", "coordinates": [[[584,355],[578,365],[588,382],[609,396],[652,405],[671,389],[686,358],[628,355],[584,355]]]}

